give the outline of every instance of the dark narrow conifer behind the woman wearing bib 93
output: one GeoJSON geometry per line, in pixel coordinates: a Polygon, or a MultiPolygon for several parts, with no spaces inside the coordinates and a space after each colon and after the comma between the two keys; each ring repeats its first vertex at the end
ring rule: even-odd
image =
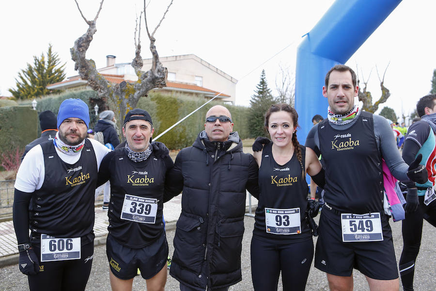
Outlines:
{"type": "Polygon", "coordinates": [[[250,99],[250,136],[265,136],[265,113],[275,103],[271,89],[268,88],[265,70],[262,70],[260,82],[256,85],[254,93],[250,99]]]}

